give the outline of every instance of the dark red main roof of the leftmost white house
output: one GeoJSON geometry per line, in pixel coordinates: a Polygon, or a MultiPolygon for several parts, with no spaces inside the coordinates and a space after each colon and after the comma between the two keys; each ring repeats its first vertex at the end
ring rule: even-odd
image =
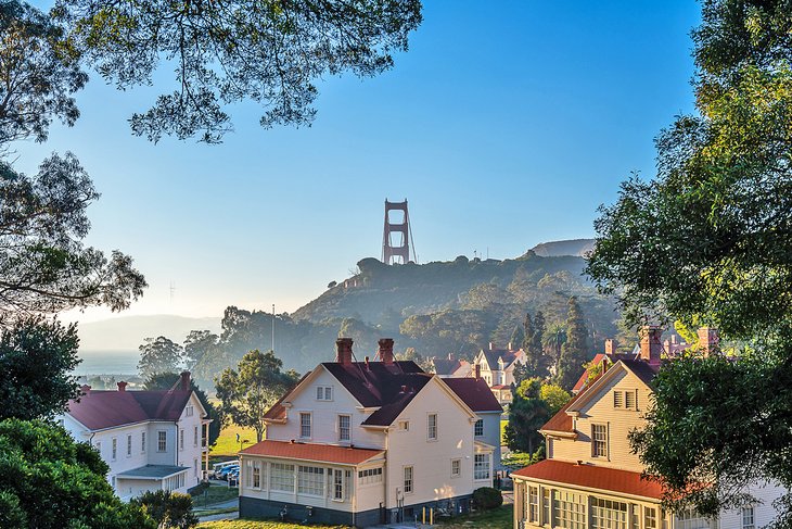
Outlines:
{"type": "Polygon", "coordinates": [[[90,430],[103,430],[144,420],[178,420],[192,390],[94,391],[69,400],[67,412],[90,430]]]}

